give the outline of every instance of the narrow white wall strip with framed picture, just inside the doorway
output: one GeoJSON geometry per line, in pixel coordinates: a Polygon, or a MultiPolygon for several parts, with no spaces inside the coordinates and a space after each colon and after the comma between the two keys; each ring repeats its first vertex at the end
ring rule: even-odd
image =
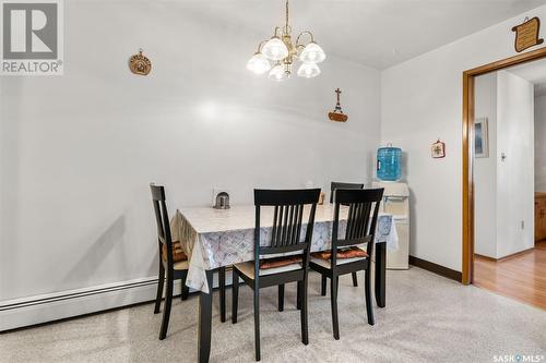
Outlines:
{"type": "Polygon", "coordinates": [[[497,256],[497,73],[475,82],[476,119],[487,118],[489,156],[474,160],[475,233],[477,254],[497,256]]]}

